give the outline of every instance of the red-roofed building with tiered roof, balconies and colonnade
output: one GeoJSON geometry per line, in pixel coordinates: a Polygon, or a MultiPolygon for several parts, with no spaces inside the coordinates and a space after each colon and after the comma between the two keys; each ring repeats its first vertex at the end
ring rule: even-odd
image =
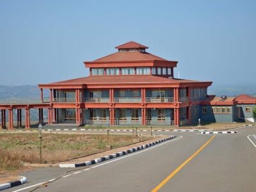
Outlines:
{"type": "Polygon", "coordinates": [[[88,77],[38,84],[38,103],[0,104],[2,127],[8,111],[8,127],[13,128],[13,110],[17,111],[17,125],[21,125],[24,110],[25,127],[30,127],[32,108],[38,109],[40,123],[43,109],[47,109],[48,124],[186,125],[197,123],[198,118],[234,122],[244,118],[243,104],[250,108],[256,104],[248,95],[237,99],[207,95],[212,82],[175,78],[173,69],[178,62],[150,54],[145,45],[128,42],[115,48],[113,54],[84,62],[90,70],[88,77]],[[46,89],[49,96],[44,97],[46,89]]]}

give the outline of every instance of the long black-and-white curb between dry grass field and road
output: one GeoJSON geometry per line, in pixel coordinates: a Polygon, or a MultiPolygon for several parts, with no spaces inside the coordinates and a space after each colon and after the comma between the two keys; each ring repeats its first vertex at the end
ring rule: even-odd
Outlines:
{"type": "Polygon", "coordinates": [[[176,138],[177,136],[170,136],[168,138],[164,138],[162,140],[154,141],[152,143],[147,143],[145,145],[140,145],[139,147],[130,148],[128,150],[124,150],[122,152],[117,152],[116,154],[112,154],[110,156],[104,156],[97,159],[93,159],[92,161],[86,161],[84,163],[75,163],[75,164],[59,164],[60,168],[76,168],[78,166],[88,166],[91,164],[100,163],[102,161],[106,161],[108,159],[114,159],[116,157],[124,156],[126,154],[131,154],[132,152],[136,152],[138,150],[142,150],[144,148],[148,148],[150,146],[156,145],[158,143],[162,143],[164,141],[172,140],[173,138],[176,138]]]}

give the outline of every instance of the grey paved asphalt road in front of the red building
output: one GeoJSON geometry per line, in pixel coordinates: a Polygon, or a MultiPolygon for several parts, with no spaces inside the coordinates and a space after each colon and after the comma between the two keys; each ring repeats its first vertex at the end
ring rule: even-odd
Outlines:
{"type": "MultiPolygon", "coordinates": [[[[247,138],[251,135],[256,143],[256,127],[237,131],[214,138],[212,134],[175,132],[180,135],[177,140],[83,168],[36,191],[152,191],[159,184],[159,191],[256,191],[256,148],[247,138]],[[177,170],[179,166],[182,168],[177,170]],[[171,178],[163,182],[168,176],[171,178]]],[[[34,170],[25,174],[28,184],[6,191],[26,188],[63,172],[60,168],[34,170]]]]}

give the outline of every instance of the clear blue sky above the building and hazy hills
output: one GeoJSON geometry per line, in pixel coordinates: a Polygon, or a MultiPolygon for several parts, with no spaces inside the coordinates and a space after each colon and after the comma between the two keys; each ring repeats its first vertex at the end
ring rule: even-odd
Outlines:
{"type": "Polygon", "coordinates": [[[83,61],[134,41],[175,77],[255,83],[256,1],[0,0],[0,84],[88,76],[83,61]]]}

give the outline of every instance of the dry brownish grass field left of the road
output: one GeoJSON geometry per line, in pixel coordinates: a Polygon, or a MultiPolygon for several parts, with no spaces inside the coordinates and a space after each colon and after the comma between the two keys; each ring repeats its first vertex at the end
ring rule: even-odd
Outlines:
{"type": "MultiPolygon", "coordinates": [[[[108,150],[106,134],[42,134],[42,161],[55,163],[108,150]]],[[[140,137],[145,141],[150,137],[140,137]]],[[[112,148],[134,143],[134,135],[109,134],[112,148]]],[[[40,163],[38,133],[1,133],[0,170],[15,170],[24,163],[40,163]]]]}

